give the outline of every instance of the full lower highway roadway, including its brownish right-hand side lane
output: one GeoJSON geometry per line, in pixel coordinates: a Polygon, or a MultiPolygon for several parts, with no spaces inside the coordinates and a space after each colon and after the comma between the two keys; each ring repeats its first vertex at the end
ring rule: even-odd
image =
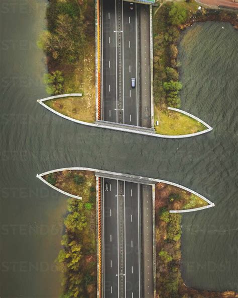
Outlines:
{"type": "Polygon", "coordinates": [[[103,297],[151,297],[144,291],[153,289],[152,187],[109,178],[101,184],[103,297]]]}

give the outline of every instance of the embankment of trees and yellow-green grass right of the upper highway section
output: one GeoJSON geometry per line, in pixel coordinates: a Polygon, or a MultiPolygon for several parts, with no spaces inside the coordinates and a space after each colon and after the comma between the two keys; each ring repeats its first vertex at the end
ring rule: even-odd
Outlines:
{"type": "Polygon", "coordinates": [[[167,107],[179,108],[179,63],[177,61],[181,30],[195,21],[224,21],[237,26],[235,13],[203,9],[197,11],[195,1],[167,2],[154,8],[154,119],[159,120],[156,132],[161,134],[188,134],[206,129],[196,120],[180,113],[168,113],[167,107]]]}

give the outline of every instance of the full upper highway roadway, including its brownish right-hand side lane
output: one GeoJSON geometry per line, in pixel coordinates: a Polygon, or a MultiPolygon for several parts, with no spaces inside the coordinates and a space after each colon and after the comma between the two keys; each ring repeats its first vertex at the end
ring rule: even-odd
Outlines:
{"type": "Polygon", "coordinates": [[[104,121],[151,127],[150,16],[145,7],[134,3],[131,10],[129,2],[101,0],[104,121]],[[132,78],[136,79],[135,88],[132,78]]]}

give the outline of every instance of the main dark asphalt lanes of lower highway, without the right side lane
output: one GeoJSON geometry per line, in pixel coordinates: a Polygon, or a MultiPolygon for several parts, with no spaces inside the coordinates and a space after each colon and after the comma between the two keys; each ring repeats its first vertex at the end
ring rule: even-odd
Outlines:
{"type": "Polygon", "coordinates": [[[102,179],[104,298],[142,297],[140,189],[137,183],[102,179]]]}

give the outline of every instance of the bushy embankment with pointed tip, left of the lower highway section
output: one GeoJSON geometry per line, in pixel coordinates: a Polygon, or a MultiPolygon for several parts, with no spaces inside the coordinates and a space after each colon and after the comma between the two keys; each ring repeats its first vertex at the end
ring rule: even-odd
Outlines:
{"type": "Polygon", "coordinates": [[[96,178],[93,172],[63,171],[43,177],[52,185],[79,195],[69,199],[65,233],[57,263],[63,273],[61,298],[96,297],[96,178]]]}

